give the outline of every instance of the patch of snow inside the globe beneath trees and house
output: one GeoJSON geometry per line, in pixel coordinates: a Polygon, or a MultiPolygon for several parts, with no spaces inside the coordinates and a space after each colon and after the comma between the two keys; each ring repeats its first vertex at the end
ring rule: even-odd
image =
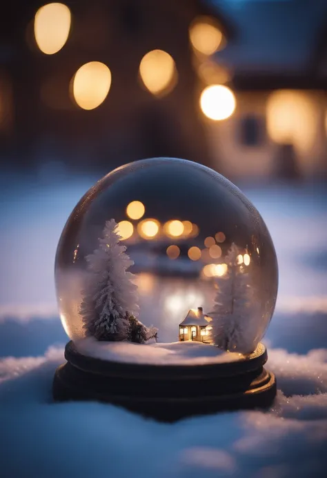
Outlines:
{"type": "Polygon", "coordinates": [[[201,342],[129,343],[99,342],[94,337],[75,341],[77,350],[96,359],[148,365],[221,364],[244,359],[239,353],[222,352],[201,342]]]}

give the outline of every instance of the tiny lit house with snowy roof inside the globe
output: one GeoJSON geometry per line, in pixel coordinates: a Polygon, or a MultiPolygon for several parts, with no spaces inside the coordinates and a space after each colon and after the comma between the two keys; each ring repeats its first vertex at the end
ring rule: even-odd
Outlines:
{"type": "Polygon", "coordinates": [[[179,341],[195,340],[197,342],[211,343],[210,326],[212,318],[204,315],[202,307],[190,309],[188,315],[179,324],[179,341]]]}

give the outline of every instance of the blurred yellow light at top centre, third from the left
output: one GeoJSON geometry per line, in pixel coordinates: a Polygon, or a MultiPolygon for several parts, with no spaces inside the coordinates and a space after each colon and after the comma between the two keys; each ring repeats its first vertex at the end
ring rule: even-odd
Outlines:
{"type": "Polygon", "coordinates": [[[139,65],[139,74],[152,94],[170,91],[177,80],[175,61],[163,50],[152,50],[145,54],[139,65]]]}

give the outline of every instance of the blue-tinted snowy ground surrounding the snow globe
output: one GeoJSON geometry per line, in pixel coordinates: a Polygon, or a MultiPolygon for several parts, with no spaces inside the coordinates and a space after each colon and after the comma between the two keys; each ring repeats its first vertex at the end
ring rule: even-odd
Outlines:
{"type": "MultiPolygon", "coordinates": [[[[326,192],[247,191],[279,258],[266,335],[279,388],[273,408],[159,424],[115,406],[52,403],[67,341],[54,302],[54,250],[90,183],[0,185],[1,478],[326,477],[326,192]]],[[[190,284],[185,299],[198,293],[190,284]]],[[[172,308],[178,294],[171,291],[172,308]]]]}

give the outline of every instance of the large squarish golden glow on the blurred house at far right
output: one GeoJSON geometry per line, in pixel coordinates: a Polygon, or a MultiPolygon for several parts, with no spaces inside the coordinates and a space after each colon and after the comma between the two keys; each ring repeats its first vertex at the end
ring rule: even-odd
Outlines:
{"type": "Polygon", "coordinates": [[[318,127],[317,108],[308,93],[277,90],[267,103],[267,129],[276,143],[293,144],[300,150],[313,146],[318,127]]]}

